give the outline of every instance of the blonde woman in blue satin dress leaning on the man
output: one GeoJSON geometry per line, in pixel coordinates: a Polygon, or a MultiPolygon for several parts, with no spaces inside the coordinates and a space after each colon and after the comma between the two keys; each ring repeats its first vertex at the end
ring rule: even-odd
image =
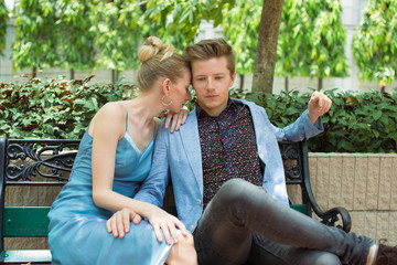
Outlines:
{"type": "Polygon", "coordinates": [[[191,98],[190,68],[173,46],[154,36],[147,39],[138,56],[140,95],[108,103],[94,116],[69,181],[49,213],[53,264],[196,264],[183,223],[133,199],[151,167],[155,115],[164,109],[179,113],[191,98]],[[126,234],[106,226],[121,209],[129,209],[133,221],[126,234]]]}

